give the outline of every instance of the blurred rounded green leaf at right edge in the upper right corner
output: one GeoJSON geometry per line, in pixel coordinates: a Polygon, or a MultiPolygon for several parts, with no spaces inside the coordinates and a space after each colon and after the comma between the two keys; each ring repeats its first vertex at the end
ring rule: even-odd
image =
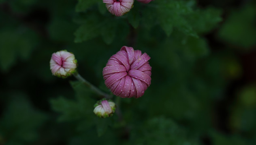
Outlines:
{"type": "Polygon", "coordinates": [[[256,45],[256,5],[247,4],[230,13],[219,37],[230,44],[249,48],[256,45]]]}

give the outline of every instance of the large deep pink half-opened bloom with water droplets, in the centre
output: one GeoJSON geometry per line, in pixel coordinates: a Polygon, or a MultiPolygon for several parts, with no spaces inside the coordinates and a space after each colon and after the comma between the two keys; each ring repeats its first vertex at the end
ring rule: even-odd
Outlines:
{"type": "Polygon", "coordinates": [[[140,50],[123,46],[103,68],[105,85],[120,97],[141,97],[151,84],[150,57],[140,50]]]}

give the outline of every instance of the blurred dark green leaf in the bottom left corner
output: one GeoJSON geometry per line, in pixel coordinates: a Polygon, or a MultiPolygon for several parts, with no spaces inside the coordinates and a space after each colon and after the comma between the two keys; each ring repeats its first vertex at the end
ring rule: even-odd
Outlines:
{"type": "Polygon", "coordinates": [[[37,130],[45,120],[45,114],[32,107],[26,95],[13,93],[0,120],[0,134],[6,144],[28,143],[38,138],[37,130]]]}

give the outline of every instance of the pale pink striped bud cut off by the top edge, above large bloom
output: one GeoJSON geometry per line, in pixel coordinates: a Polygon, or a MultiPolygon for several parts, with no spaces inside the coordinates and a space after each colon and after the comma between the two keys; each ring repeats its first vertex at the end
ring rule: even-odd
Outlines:
{"type": "Polygon", "coordinates": [[[106,3],[106,7],[111,12],[120,17],[126,12],[129,12],[133,6],[134,0],[103,0],[106,3]]]}

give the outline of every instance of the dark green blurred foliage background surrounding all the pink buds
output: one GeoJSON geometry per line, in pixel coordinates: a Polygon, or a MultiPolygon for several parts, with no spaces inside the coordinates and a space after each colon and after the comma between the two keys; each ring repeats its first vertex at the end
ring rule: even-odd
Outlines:
{"type": "Polygon", "coordinates": [[[255,2],[197,2],[135,1],[115,17],[102,0],[0,0],[0,145],[256,144],[256,80],[244,76],[256,73],[244,60],[255,2]],[[152,82],[139,99],[114,96],[110,118],[93,113],[100,96],[49,70],[68,50],[111,94],[102,68],[122,46],[149,54],[152,82]]]}

